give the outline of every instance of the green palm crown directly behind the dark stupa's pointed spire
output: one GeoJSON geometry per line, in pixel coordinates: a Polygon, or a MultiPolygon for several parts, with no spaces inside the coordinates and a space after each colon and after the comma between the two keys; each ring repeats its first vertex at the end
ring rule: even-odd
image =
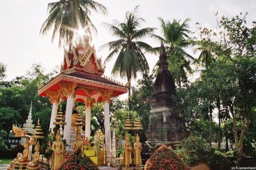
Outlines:
{"type": "MultiPolygon", "coordinates": [[[[182,23],[180,23],[180,19],[173,19],[172,22],[165,22],[163,18],[158,19],[161,22],[164,38],[153,34],[152,37],[165,44],[167,60],[169,63],[168,69],[173,75],[175,82],[181,87],[182,82],[187,81],[185,69],[189,73],[192,73],[192,69],[189,65],[190,62],[186,58],[194,60],[193,56],[183,49],[190,46],[190,43],[187,41],[189,38],[188,34],[191,33],[191,31],[188,30],[189,18],[185,19],[182,23]]],[[[155,49],[158,50],[159,47],[155,49]]],[[[156,66],[154,70],[157,70],[156,66]]]]}

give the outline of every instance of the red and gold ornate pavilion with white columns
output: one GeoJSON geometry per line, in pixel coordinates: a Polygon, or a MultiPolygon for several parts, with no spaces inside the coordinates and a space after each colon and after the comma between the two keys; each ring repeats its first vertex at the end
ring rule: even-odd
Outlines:
{"type": "Polygon", "coordinates": [[[84,103],[86,108],[85,137],[90,139],[91,108],[93,104],[104,103],[104,128],[105,144],[110,134],[110,108],[112,97],[127,93],[127,87],[120,82],[103,76],[104,68],[101,59],[97,59],[94,46],[90,45],[89,37],[79,42],[71,51],[64,51],[64,60],[61,64],[60,74],[39,87],[39,96],[49,97],[52,104],[50,128],[54,128],[53,122],[57,116],[60,99],[67,100],[66,116],[63,139],[70,145],[71,118],[74,101],[84,103]]]}

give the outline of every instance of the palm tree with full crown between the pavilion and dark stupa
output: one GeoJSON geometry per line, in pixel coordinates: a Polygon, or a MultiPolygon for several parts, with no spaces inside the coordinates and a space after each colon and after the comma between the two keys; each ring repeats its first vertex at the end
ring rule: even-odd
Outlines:
{"type": "Polygon", "coordinates": [[[135,7],[133,13],[126,12],[125,22],[121,23],[114,20],[113,24],[103,23],[112,32],[112,35],[119,39],[101,46],[101,48],[109,47],[109,50],[112,50],[106,57],[105,63],[109,62],[115,54],[118,54],[113,65],[112,74],[127,78],[129,82],[129,110],[131,110],[131,79],[136,78],[137,73],[149,72],[149,66],[142,50],[146,52],[153,50],[149,44],[140,40],[149,36],[155,30],[155,28],[148,27],[138,29],[141,22],[145,20],[136,16],[137,8],[138,6],[135,7]]]}

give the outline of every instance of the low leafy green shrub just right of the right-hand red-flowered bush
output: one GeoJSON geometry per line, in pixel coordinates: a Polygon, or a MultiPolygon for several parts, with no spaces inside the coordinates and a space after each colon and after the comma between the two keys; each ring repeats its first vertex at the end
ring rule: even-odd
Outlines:
{"type": "Polygon", "coordinates": [[[229,169],[231,167],[231,162],[227,157],[209,146],[204,139],[190,136],[182,141],[181,146],[182,148],[176,148],[175,152],[182,157],[187,166],[206,163],[212,169],[229,169]]]}

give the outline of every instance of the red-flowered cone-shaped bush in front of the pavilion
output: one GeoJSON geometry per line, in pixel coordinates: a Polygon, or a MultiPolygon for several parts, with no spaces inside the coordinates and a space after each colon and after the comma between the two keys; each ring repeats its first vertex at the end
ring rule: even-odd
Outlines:
{"type": "Polygon", "coordinates": [[[70,170],[70,169],[81,169],[81,170],[94,170],[99,169],[98,166],[92,162],[90,157],[82,156],[81,150],[74,151],[65,162],[63,162],[58,170],[70,170]]]}

